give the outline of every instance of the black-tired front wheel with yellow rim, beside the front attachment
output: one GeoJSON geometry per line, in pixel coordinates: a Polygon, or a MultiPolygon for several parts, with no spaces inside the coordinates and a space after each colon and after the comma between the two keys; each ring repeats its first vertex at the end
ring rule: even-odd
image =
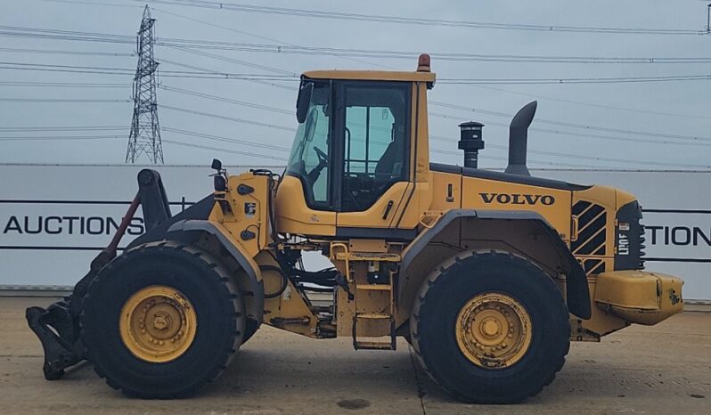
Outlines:
{"type": "Polygon", "coordinates": [[[141,398],[174,398],[195,393],[225,370],[241,345],[245,313],[222,264],[198,248],[163,241],[133,248],[104,267],[88,289],[80,323],[87,358],[110,387],[141,398]],[[135,299],[161,289],[176,294],[135,299]],[[160,315],[159,306],[179,301],[187,304],[176,306],[182,322],[174,309],[162,312],[172,318],[160,315]],[[176,335],[164,342],[145,330],[181,330],[190,340],[176,335]],[[171,342],[184,346],[159,355],[153,342],[156,350],[174,347],[171,342]]]}

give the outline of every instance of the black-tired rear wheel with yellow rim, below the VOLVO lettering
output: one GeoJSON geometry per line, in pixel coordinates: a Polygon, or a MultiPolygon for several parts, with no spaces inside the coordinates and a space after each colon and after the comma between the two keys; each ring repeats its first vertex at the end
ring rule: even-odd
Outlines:
{"type": "Polygon", "coordinates": [[[570,346],[560,290],[535,264],[503,251],[455,256],[431,273],[410,330],[429,377],[470,403],[517,403],[539,393],[570,346]]]}

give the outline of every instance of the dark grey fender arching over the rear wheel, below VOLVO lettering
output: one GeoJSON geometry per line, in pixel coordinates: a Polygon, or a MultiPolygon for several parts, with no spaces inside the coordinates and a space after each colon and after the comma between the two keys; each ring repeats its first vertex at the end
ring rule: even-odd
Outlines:
{"type": "MultiPolygon", "coordinates": [[[[405,248],[403,252],[403,260],[400,264],[400,274],[406,275],[408,267],[412,264],[413,259],[421,253],[433,238],[439,232],[442,232],[448,224],[462,218],[476,218],[477,220],[506,220],[506,221],[527,221],[535,224],[541,233],[546,237],[556,254],[560,257],[560,263],[563,265],[563,271],[567,276],[566,297],[568,298],[568,310],[582,319],[589,319],[591,315],[590,309],[590,290],[587,285],[587,277],[576,257],[568,249],[565,241],[560,239],[560,235],[556,232],[543,216],[537,212],[518,210],[518,211],[503,211],[503,210],[473,210],[473,209],[454,209],[445,213],[440,217],[434,226],[421,232],[415,240],[405,248]]],[[[405,284],[400,284],[397,289],[398,298],[403,295],[405,284]]]]}

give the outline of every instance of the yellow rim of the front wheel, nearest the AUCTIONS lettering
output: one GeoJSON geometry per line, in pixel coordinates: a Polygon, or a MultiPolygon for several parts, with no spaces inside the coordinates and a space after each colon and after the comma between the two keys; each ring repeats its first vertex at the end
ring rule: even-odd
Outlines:
{"type": "Polygon", "coordinates": [[[170,362],[183,355],[192,345],[197,327],[190,300],[172,287],[139,289],[121,308],[121,340],[146,362],[170,362]]]}

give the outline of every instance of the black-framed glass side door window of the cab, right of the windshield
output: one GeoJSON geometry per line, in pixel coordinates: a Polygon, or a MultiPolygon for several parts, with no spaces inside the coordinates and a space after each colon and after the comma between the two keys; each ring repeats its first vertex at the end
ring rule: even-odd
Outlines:
{"type": "Polygon", "coordinates": [[[347,85],[342,212],[370,208],[396,182],[408,180],[408,85],[347,85]]]}

